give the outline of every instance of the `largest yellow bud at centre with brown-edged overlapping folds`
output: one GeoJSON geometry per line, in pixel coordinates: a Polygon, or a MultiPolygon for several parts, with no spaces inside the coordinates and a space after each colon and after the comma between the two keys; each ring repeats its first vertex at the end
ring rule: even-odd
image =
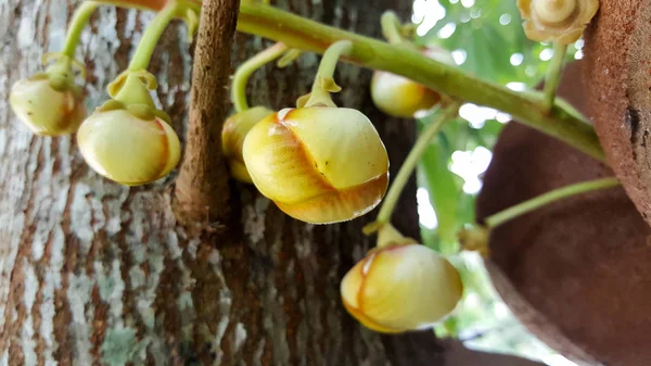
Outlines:
{"type": "Polygon", "coordinates": [[[386,149],[357,110],[282,110],[251,129],[243,155],[258,190],[307,223],[363,215],[380,203],[388,185],[386,149]]]}

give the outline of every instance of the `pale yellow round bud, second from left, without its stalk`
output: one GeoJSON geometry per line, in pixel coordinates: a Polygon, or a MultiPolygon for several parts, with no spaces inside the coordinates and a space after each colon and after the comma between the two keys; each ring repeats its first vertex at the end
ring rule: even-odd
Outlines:
{"type": "Polygon", "coordinates": [[[164,177],[181,151],[171,126],[146,110],[99,109],[81,124],[77,141],[88,165],[127,186],[164,177]]]}

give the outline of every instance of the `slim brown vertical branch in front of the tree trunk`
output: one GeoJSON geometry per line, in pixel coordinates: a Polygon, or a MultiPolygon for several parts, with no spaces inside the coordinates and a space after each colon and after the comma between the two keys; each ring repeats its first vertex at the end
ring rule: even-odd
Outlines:
{"type": "Polygon", "coordinates": [[[239,5],[239,0],[203,2],[188,139],[175,188],[175,211],[183,223],[215,224],[229,215],[228,167],[219,147],[239,5]]]}

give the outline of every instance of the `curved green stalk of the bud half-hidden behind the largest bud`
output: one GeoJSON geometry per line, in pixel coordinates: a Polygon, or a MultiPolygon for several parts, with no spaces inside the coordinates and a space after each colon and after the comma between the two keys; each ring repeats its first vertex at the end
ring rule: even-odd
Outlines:
{"type": "Polygon", "coordinates": [[[246,102],[246,83],[251,75],[263,65],[280,58],[289,48],[283,43],[276,43],[253,58],[246,60],[233,75],[233,85],[231,88],[231,100],[235,106],[235,112],[248,110],[246,102]]]}

